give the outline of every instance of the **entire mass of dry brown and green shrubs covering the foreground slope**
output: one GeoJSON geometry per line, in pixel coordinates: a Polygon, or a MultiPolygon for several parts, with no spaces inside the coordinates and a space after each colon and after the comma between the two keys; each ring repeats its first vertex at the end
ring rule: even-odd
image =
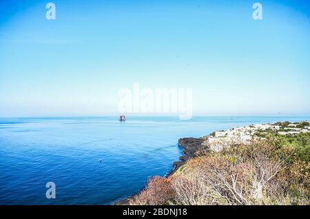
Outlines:
{"type": "Polygon", "coordinates": [[[207,147],[169,178],[149,179],[132,205],[309,205],[310,163],[269,140],[207,147]]]}

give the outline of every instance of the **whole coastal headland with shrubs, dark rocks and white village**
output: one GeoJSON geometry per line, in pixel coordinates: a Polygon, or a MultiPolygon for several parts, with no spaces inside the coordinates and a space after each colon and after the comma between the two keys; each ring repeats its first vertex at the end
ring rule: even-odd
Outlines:
{"type": "Polygon", "coordinates": [[[116,205],[309,205],[309,124],[249,125],[180,138],[183,156],[174,171],[149,178],[145,189],[116,205]]]}

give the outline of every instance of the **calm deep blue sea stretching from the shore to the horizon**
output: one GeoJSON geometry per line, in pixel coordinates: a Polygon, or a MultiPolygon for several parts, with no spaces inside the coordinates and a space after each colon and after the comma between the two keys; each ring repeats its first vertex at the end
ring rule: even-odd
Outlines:
{"type": "Polygon", "coordinates": [[[169,173],[182,154],[178,138],[310,116],[117,119],[0,118],[0,205],[109,205],[169,173]],[[55,199],[45,197],[48,182],[55,199]]]}

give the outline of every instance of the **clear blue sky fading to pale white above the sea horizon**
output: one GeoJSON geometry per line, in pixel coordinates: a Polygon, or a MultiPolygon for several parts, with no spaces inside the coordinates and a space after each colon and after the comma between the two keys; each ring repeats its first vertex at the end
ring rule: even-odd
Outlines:
{"type": "Polygon", "coordinates": [[[309,15],[297,0],[1,0],[0,116],[118,115],[135,82],[192,88],[194,116],[309,115],[309,15]]]}

